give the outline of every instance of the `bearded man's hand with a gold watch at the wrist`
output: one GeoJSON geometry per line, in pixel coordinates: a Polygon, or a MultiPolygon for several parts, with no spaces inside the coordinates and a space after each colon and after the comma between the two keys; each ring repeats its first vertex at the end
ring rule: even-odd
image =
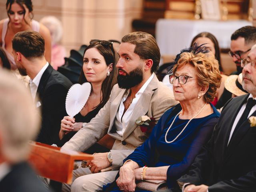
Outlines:
{"type": "Polygon", "coordinates": [[[93,160],[87,161],[87,166],[92,173],[98,173],[100,170],[111,166],[107,156],[108,153],[96,153],[93,160]]]}

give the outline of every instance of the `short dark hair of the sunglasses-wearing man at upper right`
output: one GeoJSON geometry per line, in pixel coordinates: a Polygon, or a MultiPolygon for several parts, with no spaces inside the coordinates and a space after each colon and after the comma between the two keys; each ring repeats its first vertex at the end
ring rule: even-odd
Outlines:
{"type": "Polygon", "coordinates": [[[245,44],[255,44],[256,43],[256,27],[245,26],[236,30],[231,35],[231,40],[237,40],[238,37],[243,37],[245,44]]]}

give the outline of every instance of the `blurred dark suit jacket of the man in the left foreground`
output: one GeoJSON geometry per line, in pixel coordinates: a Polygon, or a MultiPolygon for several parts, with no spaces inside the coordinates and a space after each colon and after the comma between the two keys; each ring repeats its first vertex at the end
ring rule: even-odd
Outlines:
{"type": "Polygon", "coordinates": [[[1,192],[49,192],[38,179],[34,170],[22,162],[12,166],[11,171],[0,180],[1,192]]]}

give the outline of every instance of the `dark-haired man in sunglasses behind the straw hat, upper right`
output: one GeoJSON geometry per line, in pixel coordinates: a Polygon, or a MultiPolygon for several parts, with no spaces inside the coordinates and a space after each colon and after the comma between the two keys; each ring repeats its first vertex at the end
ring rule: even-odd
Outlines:
{"type": "MultiPolygon", "coordinates": [[[[254,26],[242,27],[232,34],[229,55],[236,64],[236,71],[232,72],[232,75],[239,75],[242,72],[241,60],[248,56],[254,44],[256,44],[256,27],[254,26]]],[[[224,89],[215,107],[222,108],[231,97],[232,93],[224,89]]]]}

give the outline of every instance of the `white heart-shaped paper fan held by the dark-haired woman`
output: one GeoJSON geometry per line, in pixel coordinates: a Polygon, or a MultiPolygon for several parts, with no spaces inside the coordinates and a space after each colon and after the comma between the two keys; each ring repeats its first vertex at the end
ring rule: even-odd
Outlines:
{"type": "Polygon", "coordinates": [[[88,82],[82,85],[74,84],[70,87],[66,97],[66,112],[71,118],[84,107],[90,96],[91,89],[92,86],[88,82]]]}

